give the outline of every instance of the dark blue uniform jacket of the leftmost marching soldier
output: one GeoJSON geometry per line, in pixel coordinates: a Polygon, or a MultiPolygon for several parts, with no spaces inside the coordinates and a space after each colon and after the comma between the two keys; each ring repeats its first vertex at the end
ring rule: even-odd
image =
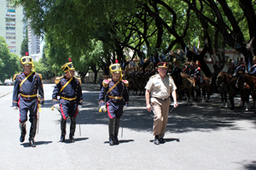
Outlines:
{"type": "MultiPolygon", "coordinates": [[[[40,104],[44,105],[44,88],[41,82],[41,78],[37,73],[33,72],[32,75],[28,77],[27,80],[20,87],[20,82],[22,82],[26,77],[27,75],[24,72],[22,72],[20,73],[20,75],[18,75],[15,78],[15,86],[14,86],[14,92],[13,92],[13,106],[18,106],[19,94],[25,94],[25,95],[39,94],[40,104]]],[[[34,98],[37,98],[37,97],[34,97],[34,98]]]]}

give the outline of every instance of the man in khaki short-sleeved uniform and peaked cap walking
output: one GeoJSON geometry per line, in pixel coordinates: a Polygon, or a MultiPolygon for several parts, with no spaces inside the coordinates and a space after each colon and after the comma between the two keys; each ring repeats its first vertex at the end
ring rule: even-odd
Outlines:
{"type": "Polygon", "coordinates": [[[154,144],[163,144],[166,141],[163,139],[166,132],[166,125],[168,121],[168,113],[171,99],[169,98],[172,93],[174,100],[174,107],[177,107],[176,85],[172,77],[166,76],[169,64],[160,62],[157,64],[159,74],[150,77],[146,85],[146,105],[147,110],[154,112],[154,144]],[[149,104],[149,99],[151,105],[149,104]]]}

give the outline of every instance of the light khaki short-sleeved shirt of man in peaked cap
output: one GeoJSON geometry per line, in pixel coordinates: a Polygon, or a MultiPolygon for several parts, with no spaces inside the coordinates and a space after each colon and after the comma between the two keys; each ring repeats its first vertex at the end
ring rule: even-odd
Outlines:
{"type": "Polygon", "coordinates": [[[150,98],[159,99],[167,99],[177,89],[172,77],[165,76],[162,80],[159,74],[150,77],[145,88],[150,92],[150,98]]]}

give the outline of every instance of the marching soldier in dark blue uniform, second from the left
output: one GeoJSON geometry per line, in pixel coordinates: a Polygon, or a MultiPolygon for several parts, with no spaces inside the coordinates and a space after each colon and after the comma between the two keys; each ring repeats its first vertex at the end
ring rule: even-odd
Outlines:
{"type": "Polygon", "coordinates": [[[52,94],[53,107],[61,112],[61,142],[65,141],[67,118],[70,117],[69,139],[74,143],[76,116],[82,108],[83,102],[81,81],[79,78],[74,77],[75,68],[71,59],[69,59],[67,64],[62,65],[61,68],[66,72],[66,76],[57,77],[55,80],[56,85],[52,94]],[[60,103],[58,103],[57,96],[61,96],[60,103]]]}

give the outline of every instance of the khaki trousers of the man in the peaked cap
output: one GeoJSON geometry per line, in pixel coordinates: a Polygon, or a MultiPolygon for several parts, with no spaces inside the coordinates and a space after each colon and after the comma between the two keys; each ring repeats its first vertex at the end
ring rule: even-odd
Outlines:
{"type": "Polygon", "coordinates": [[[170,98],[166,100],[151,98],[151,105],[154,112],[153,134],[159,135],[159,139],[164,138],[168,122],[170,98]]]}

